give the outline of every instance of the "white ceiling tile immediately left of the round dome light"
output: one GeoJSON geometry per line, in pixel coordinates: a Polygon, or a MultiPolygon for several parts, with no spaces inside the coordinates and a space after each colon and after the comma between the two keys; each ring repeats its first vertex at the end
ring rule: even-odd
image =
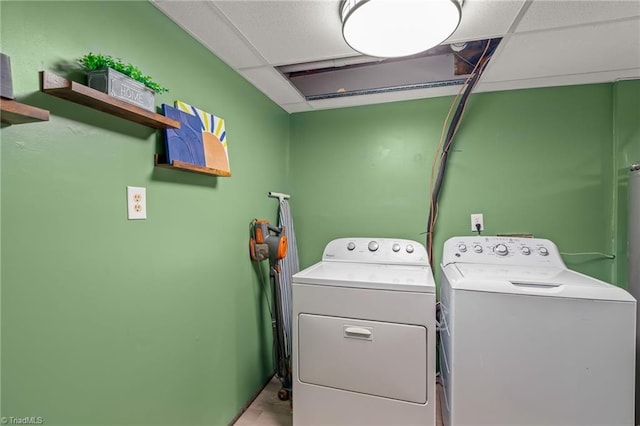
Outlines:
{"type": "Polygon", "coordinates": [[[215,3],[275,65],[357,54],[342,39],[338,0],[215,3]]]}

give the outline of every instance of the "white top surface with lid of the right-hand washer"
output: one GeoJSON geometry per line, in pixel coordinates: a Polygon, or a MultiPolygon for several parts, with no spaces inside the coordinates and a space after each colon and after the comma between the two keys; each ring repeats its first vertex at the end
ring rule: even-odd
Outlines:
{"type": "Polygon", "coordinates": [[[620,287],[565,268],[458,263],[443,271],[457,290],[635,302],[620,287]]]}

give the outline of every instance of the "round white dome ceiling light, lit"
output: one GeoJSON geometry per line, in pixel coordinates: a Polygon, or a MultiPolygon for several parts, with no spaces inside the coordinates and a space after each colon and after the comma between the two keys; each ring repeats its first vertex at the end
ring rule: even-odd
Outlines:
{"type": "Polygon", "coordinates": [[[396,58],[424,52],[458,28],[462,0],[343,0],[342,35],[360,53],[396,58]]]}

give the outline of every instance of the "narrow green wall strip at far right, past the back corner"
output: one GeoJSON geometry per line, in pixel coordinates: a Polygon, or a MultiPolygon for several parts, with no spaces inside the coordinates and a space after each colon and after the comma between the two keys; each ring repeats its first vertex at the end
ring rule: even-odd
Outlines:
{"type": "MultiPolygon", "coordinates": [[[[615,281],[627,283],[627,224],[629,166],[640,162],[640,80],[619,81],[614,93],[615,221],[618,262],[615,281]]],[[[640,220],[636,218],[636,220],[640,220]]],[[[640,259],[634,259],[640,262],[640,259]]]]}

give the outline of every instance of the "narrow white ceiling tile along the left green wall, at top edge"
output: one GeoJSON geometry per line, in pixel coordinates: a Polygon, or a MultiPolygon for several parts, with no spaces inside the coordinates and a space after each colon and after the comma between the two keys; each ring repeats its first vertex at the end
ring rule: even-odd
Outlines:
{"type": "Polygon", "coordinates": [[[210,2],[153,0],[152,3],[232,68],[264,64],[210,2]]]}

